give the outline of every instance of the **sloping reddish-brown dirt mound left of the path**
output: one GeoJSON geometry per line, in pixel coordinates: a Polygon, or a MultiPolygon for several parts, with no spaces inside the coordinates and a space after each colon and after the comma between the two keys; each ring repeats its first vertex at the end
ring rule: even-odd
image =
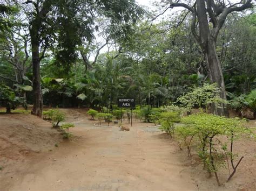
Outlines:
{"type": "Polygon", "coordinates": [[[0,166],[7,170],[32,153],[50,150],[62,140],[49,122],[32,115],[0,115],[0,166]]]}

